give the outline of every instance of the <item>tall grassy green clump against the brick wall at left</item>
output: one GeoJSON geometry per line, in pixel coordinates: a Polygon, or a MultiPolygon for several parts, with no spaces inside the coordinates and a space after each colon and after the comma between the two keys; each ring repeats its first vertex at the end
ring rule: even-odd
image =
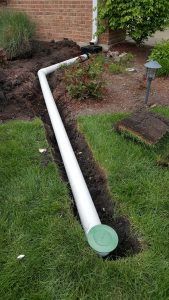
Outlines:
{"type": "Polygon", "coordinates": [[[0,12],[0,47],[8,58],[24,57],[31,53],[31,40],[35,25],[25,13],[2,10],[0,12]]]}

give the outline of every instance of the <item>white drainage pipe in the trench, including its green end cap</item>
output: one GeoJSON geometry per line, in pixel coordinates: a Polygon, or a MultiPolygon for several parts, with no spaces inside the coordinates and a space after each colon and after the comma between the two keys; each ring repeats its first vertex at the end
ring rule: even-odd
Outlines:
{"type": "Polygon", "coordinates": [[[84,54],[41,69],[38,71],[38,77],[82,226],[91,247],[101,256],[105,256],[116,248],[118,237],[111,227],[100,222],[46,78],[61,66],[87,59],[88,55],[84,54]]]}

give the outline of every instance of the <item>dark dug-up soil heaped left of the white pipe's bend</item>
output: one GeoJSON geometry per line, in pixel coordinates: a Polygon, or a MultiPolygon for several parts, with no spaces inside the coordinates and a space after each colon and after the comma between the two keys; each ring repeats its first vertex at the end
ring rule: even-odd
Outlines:
{"type": "MultiPolygon", "coordinates": [[[[41,95],[38,70],[80,53],[80,47],[69,40],[57,43],[35,42],[32,58],[9,61],[5,69],[0,68],[1,121],[34,117],[31,102],[36,102],[41,95]]],[[[38,101],[37,106],[41,106],[38,101]]]]}

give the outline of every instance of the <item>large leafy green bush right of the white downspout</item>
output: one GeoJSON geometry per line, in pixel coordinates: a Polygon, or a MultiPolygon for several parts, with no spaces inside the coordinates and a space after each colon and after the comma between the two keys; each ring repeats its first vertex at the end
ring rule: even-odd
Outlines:
{"type": "Polygon", "coordinates": [[[113,30],[123,29],[140,44],[157,30],[163,30],[168,25],[169,1],[102,0],[99,20],[100,32],[106,29],[106,25],[113,30]]]}

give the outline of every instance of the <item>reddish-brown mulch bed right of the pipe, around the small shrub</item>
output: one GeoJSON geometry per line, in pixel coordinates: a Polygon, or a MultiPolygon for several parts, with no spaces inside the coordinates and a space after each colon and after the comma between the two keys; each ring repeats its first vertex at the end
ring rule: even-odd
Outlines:
{"type": "MultiPolygon", "coordinates": [[[[75,115],[136,111],[145,106],[146,79],[144,64],[151,48],[122,43],[113,46],[111,50],[119,51],[119,53],[131,52],[135,58],[130,67],[134,67],[136,72],[118,75],[105,72],[103,78],[106,81],[106,89],[101,100],[86,99],[85,101],[77,101],[71,99],[66,93],[61,74],[57,72],[52,76],[54,95],[61,98],[65,95],[67,106],[75,115]]],[[[152,82],[149,105],[169,105],[168,86],[169,78],[156,78],[152,82]]]]}

